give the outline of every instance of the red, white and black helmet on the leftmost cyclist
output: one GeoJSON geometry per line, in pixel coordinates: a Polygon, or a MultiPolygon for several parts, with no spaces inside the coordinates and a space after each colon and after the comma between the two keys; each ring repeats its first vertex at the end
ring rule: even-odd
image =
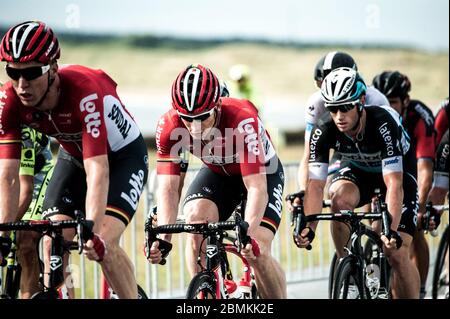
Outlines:
{"type": "Polygon", "coordinates": [[[0,45],[6,62],[36,61],[44,64],[60,56],[58,39],[52,29],[40,21],[27,21],[8,30],[0,45]]]}

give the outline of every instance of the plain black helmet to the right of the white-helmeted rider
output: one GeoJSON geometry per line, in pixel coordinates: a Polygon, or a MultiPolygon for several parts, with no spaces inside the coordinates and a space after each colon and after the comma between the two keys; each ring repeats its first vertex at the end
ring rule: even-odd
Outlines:
{"type": "Polygon", "coordinates": [[[398,71],[384,71],[376,75],[372,85],[386,97],[399,97],[402,100],[411,91],[411,82],[406,75],[398,71]]]}

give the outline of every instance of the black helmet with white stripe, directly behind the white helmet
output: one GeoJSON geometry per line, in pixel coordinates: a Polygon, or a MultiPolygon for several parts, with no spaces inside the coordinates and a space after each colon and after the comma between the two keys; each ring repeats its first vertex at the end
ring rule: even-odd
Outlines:
{"type": "Polygon", "coordinates": [[[340,51],[329,52],[317,62],[314,68],[314,80],[322,82],[331,71],[341,67],[358,71],[355,60],[349,54],[340,51]]]}

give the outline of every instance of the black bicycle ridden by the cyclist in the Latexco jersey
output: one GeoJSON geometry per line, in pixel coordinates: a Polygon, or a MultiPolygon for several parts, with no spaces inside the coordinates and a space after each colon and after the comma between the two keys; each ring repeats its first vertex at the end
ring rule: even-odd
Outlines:
{"type": "MultiPolygon", "coordinates": [[[[357,287],[358,297],[361,299],[386,299],[389,294],[389,270],[386,256],[382,253],[383,243],[380,236],[362,223],[364,219],[382,220],[383,234],[390,236],[390,215],[386,204],[378,198],[378,212],[376,213],[358,213],[348,210],[342,210],[339,213],[332,214],[314,214],[305,216],[303,201],[294,207],[293,236],[298,234],[306,227],[307,222],[320,220],[334,220],[350,224],[350,248],[345,247],[348,255],[338,261],[336,272],[334,273],[331,294],[333,299],[348,299],[349,287],[357,287]],[[367,236],[373,243],[376,243],[380,254],[373,263],[367,264],[365,253],[362,247],[362,236],[367,236]]],[[[311,250],[309,245],[306,247],[311,250]]],[[[350,289],[351,292],[351,289],[350,289]]]]}

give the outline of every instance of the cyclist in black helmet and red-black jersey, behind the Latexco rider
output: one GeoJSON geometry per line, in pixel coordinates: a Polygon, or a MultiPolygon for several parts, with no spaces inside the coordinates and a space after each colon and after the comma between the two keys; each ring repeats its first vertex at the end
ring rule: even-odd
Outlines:
{"type": "Polygon", "coordinates": [[[428,193],[433,182],[433,161],[435,158],[434,116],[421,101],[409,97],[411,83],[407,76],[398,71],[385,71],[376,75],[373,85],[389,100],[402,118],[402,124],[411,138],[417,159],[417,182],[419,211],[417,230],[414,233],[411,256],[421,278],[421,298],[425,297],[429,266],[429,248],[422,229],[421,216],[425,213],[428,193]]]}

